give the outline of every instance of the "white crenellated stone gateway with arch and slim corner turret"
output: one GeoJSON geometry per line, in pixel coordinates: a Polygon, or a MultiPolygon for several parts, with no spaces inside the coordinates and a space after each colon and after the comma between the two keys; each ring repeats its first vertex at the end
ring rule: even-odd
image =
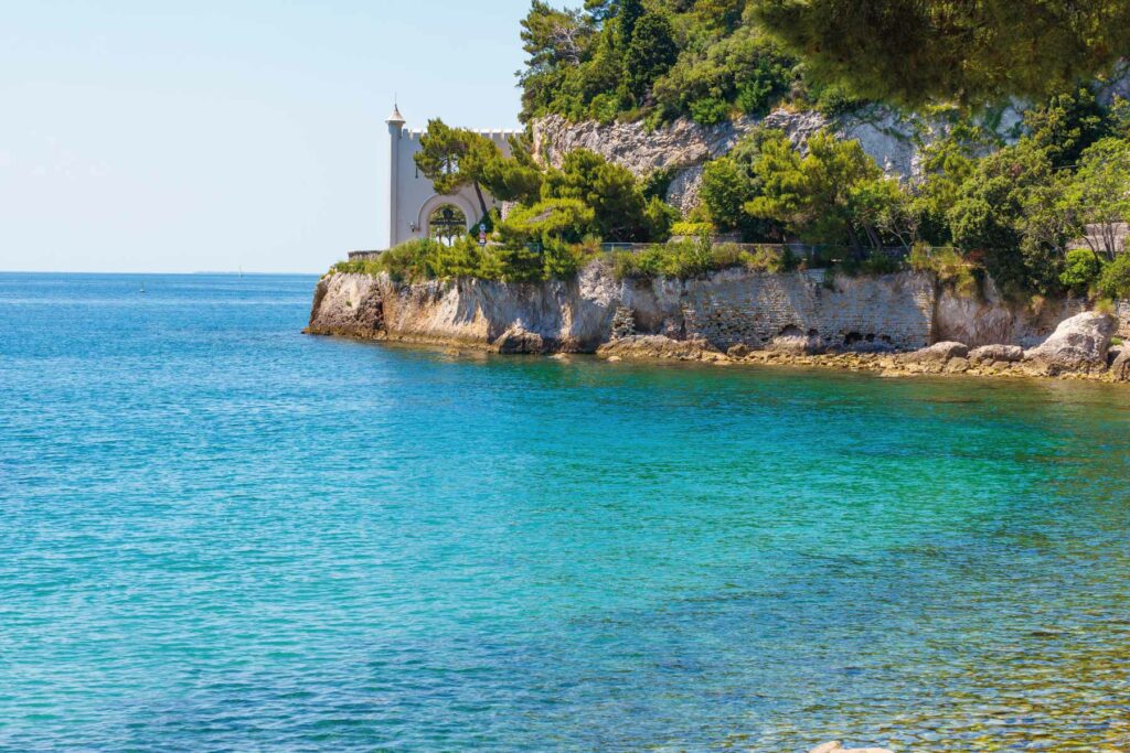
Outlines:
{"type": "MultiPolygon", "coordinates": [[[[483,213],[479,208],[478,198],[473,187],[463,187],[458,193],[445,196],[437,194],[432,181],[427,180],[412,160],[412,155],[420,150],[420,137],[424,131],[412,131],[405,128],[405,119],[400,114],[399,107],[393,107],[392,115],[385,121],[389,125],[389,182],[388,182],[388,207],[385,218],[388,221],[388,237],[385,248],[391,248],[398,244],[412,238],[435,237],[432,220],[437,211],[443,207],[450,207],[462,213],[466,222],[464,230],[470,230],[478,225],[483,213]]],[[[505,152],[510,154],[508,137],[518,131],[479,131],[483,135],[494,141],[505,152]]],[[[488,207],[496,207],[492,196],[484,195],[488,207]]],[[[443,222],[452,222],[454,212],[446,218],[441,218],[443,222]]],[[[451,228],[451,225],[442,227],[451,228]]]]}

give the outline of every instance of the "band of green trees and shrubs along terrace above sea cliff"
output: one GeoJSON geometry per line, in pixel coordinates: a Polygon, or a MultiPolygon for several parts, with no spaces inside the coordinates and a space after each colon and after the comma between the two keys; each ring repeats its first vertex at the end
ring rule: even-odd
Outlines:
{"type": "MultiPolygon", "coordinates": [[[[702,202],[680,218],[660,199],[669,174],[637,178],[588,150],[542,168],[523,140],[507,156],[485,137],[433,121],[418,165],[444,190],[473,184],[514,202],[505,220],[485,217],[505,253],[405,269],[410,277],[531,280],[575,269],[584,256],[575,249],[585,243],[732,233],[748,243],[846,247],[840,257],[855,266],[889,246],[954,247],[1015,297],[1130,292],[1119,282],[1121,262],[1113,263],[1116,230],[1130,217],[1130,110],[1122,100],[1103,106],[1081,88],[1028,111],[1025,129],[1002,147],[984,129],[957,123],[924,149],[913,181],[885,175],[858,141],[827,131],[798,145],[781,131],[756,129],[706,164],[702,202]],[[1089,262],[1069,253],[1080,238],[1089,262]]],[[[619,268],[632,274],[718,268],[692,257],[684,249],[654,252],[652,261],[619,268]]]]}

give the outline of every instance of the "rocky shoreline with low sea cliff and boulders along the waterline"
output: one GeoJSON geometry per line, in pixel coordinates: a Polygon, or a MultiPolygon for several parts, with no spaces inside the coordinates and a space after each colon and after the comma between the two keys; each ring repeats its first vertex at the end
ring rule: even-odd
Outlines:
{"type": "Polygon", "coordinates": [[[920,273],[836,278],[727,271],[695,280],[395,282],[331,273],[310,334],[499,353],[596,353],[868,371],[880,376],[1130,380],[1128,323],[1053,301],[1043,313],[962,296],[920,273]],[[1079,313],[1081,310],[1081,313],[1079,313]]]}

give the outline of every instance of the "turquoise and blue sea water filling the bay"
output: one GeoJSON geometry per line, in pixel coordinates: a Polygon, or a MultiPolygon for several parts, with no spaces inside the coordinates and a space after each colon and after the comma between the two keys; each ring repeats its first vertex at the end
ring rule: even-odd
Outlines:
{"type": "Polygon", "coordinates": [[[0,748],[1130,746],[1130,391],[0,275],[0,748]]]}

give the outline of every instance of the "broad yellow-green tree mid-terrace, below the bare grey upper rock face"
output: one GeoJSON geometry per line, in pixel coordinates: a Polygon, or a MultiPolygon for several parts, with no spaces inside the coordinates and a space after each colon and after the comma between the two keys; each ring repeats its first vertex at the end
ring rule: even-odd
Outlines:
{"type": "Polygon", "coordinates": [[[793,148],[781,131],[773,132],[754,163],[762,194],[746,204],[754,217],[776,220],[808,243],[862,247],[859,234],[859,190],[883,177],[883,170],[859,141],[840,141],[828,131],[812,134],[808,154],[793,148]]]}

